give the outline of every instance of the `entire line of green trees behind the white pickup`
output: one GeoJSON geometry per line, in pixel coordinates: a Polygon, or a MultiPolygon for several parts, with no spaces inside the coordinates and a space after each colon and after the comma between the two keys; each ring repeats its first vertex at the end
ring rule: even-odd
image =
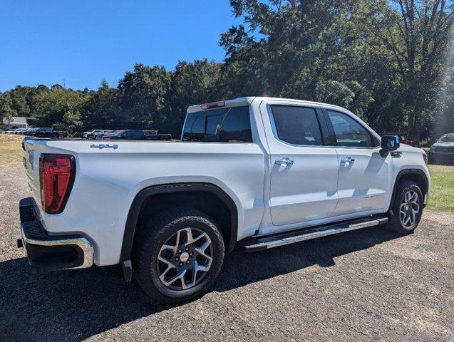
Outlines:
{"type": "Polygon", "coordinates": [[[266,95],[341,105],[377,132],[454,131],[454,4],[448,0],[231,0],[242,24],[225,60],[136,64],[115,88],[16,86],[1,116],[76,133],[153,128],[178,136],[188,105],[266,95]]]}

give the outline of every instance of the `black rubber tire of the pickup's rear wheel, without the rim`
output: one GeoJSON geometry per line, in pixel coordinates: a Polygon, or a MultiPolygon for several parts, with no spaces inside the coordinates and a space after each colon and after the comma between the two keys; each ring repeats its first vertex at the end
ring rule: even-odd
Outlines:
{"type": "MultiPolygon", "coordinates": [[[[178,242],[176,244],[179,244],[178,242]]],[[[224,239],[217,224],[203,212],[190,208],[169,209],[152,217],[138,229],[133,252],[135,279],[142,289],[155,301],[175,304],[204,294],[214,283],[224,260],[224,239]],[[187,228],[197,229],[210,237],[212,261],[210,268],[199,283],[189,289],[174,290],[159,278],[158,254],[163,244],[172,236],[187,228]]],[[[182,259],[182,258],[181,258],[182,259]]],[[[181,280],[183,282],[183,280],[181,280]]]]}

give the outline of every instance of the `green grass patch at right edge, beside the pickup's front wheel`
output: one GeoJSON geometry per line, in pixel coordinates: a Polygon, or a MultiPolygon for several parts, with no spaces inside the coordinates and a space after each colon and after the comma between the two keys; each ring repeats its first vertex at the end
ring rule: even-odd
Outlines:
{"type": "Polygon", "coordinates": [[[428,165],[430,172],[430,196],[428,208],[454,212],[454,166],[428,165]]]}

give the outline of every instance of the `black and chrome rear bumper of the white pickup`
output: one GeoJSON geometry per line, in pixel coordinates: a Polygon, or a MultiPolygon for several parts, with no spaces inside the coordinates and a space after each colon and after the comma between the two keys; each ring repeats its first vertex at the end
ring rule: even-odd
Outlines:
{"type": "Polygon", "coordinates": [[[93,245],[79,234],[48,235],[33,212],[34,199],[19,202],[21,239],[31,266],[45,270],[82,269],[93,265],[93,245]]]}

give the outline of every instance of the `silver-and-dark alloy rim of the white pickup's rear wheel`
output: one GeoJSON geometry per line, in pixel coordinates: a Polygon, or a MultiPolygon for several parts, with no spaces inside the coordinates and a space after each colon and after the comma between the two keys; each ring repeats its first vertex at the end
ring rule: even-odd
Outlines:
{"type": "Polygon", "coordinates": [[[212,258],[212,242],[207,233],[197,228],[180,229],[159,250],[159,279],[168,289],[190,289],[205,278],[212,258]]]}

